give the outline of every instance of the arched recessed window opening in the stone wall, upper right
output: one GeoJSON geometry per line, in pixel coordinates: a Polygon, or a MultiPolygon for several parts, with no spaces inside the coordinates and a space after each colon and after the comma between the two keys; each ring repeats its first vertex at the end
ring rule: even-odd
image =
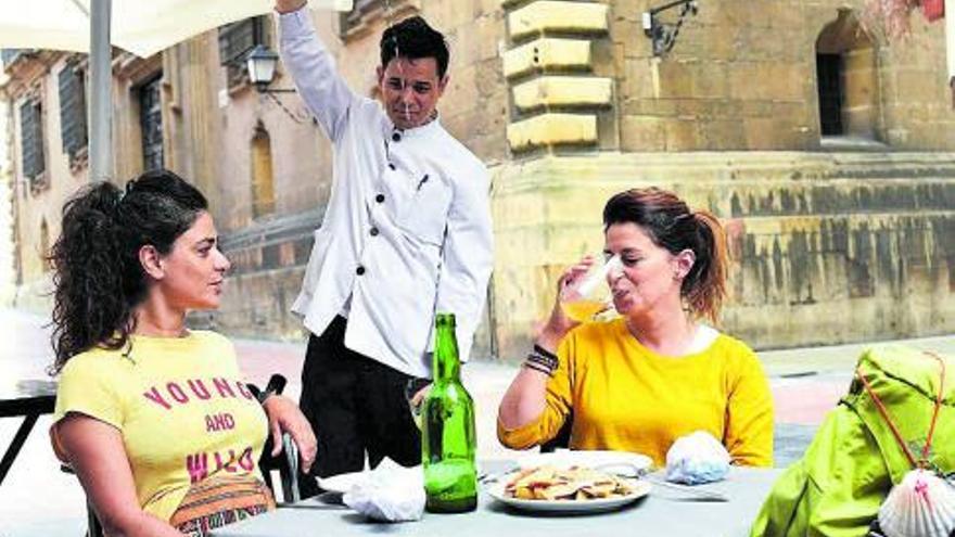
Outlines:
{"type": "Polygon", "coordinates": [[[819,132],[826,137],[875,140],[879,114],[875,42],[855,14],[839,10],[816,39],[819,132]]]}

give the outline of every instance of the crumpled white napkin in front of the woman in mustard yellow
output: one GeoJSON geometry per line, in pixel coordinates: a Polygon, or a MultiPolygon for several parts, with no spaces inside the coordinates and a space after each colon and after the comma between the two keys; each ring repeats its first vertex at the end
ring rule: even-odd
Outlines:
{"type": "Polygon", "coordinates": [[[682,436],[666,452],[666,481],[699,485],[726,477],[729,452],[704,431],[682,436]]]}

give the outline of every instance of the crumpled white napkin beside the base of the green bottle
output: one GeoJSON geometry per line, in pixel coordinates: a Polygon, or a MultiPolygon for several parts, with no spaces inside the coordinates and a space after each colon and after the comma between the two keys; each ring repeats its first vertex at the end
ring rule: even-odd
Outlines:
{"type": "Polygon", "coordinates": [[[342,497],[342,501],[369,519],[384,522],[421,520],[424,513],[424,472],[405,468],[384,458],[366,472],[342,497]]]}

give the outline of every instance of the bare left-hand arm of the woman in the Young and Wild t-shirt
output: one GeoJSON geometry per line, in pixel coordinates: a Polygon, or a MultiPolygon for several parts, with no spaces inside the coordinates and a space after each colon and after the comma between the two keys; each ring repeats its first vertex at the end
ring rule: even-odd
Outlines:
{"type": "Polygon", "coordinates": [[[132,470],[114,426],[71,412],[54,435],[69,461],[106,535],[182,537],[169,523],[139,507],[132,470]]]}

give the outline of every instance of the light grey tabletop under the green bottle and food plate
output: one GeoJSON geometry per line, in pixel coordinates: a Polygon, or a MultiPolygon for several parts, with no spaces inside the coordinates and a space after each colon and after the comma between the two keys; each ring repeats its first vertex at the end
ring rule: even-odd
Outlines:
{"type": "MultiPolygon", "coordinates": [[[[485,469],[489,464],[485,464],[485,469]]],[[[500,464],[500,469],[508,468],[500,464]]],[[[763,500],[782,470],[733,468],[725,481],[705,485],[730,501],[691,500],[678,491],[654,487],[648,496],[617,511],[548,515],[512,510],[481,493],[478,510],[462,514],[431,514],[419,522],[370,522],[354,511],[303,500],[213,532],[215,537],[369,536],[421,537],[563,537],[581,535],[665,535],[666,537],[736,537],[749,535],[763,500]]],[[[655,474],[662,478],[662,474],[655,474]]]]}

